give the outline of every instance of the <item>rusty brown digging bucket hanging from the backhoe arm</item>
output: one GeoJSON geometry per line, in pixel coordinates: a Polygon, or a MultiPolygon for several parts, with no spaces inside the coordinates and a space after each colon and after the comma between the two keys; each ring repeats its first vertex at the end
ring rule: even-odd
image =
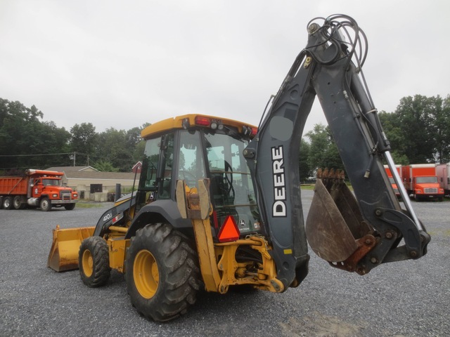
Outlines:
{"type": "Polygon", "coordinates": [[[335,267],[355,271],[356,263],[375,246],[343,172],[319,171],[305,230],[311,249],[335,267]]]}

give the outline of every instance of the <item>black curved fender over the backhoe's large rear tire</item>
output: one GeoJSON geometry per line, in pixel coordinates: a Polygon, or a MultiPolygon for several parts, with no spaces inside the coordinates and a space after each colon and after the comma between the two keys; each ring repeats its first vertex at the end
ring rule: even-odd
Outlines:
{"type": "Polygon", "coordinates": [[[136,231],[149,223],[169,223],[176,230],[188,237],[193,237],[192,223],[189,219],[181,218],[181,214],[174,200],[155,200],[143,206],[133,219],[125,239],[134,237],[136,231]]]}

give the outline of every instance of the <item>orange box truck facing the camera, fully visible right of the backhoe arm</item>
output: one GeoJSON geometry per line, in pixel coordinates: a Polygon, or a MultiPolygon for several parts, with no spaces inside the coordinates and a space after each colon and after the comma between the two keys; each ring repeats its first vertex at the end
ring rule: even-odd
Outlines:
{"type": "Polygon", "coordinates": [[[401,176],[408,194],[416,201],[424,199],[444,199],[444,189],[439,185],[436,164],[412,164],[401,166],[401,176]]]}

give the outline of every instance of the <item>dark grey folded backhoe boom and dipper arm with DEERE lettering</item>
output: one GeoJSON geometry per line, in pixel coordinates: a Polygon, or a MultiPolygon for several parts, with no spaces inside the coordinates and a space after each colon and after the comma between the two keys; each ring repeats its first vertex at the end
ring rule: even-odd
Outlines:
{"type": "Polygon", "coordinates": [[[419,258],[430,241],[411,205],[401,209],[383,167],[383,156],[391,159],[390,145],[361,79],[365,54],[362,59],[356,57],[364,33],[345,15],[320,20],[323,25],[309,23],[306,48],[263,116],[257,136],[244,150],[257,186],[262,227],[271,239],[277,277],[285,288],[296,286],[307,275],[298,165],[304,124],[316,95],[354,188],[364,219],[361,226],[368,228],[365,234],[371,239],[366,240],[372,242],[370,253],[360,253],[357,260],[350,257],[356,265],[351,271],[365,274],[383,262],[419,258]],[[399,247],[401,238],[405,244],[399,247]]]}

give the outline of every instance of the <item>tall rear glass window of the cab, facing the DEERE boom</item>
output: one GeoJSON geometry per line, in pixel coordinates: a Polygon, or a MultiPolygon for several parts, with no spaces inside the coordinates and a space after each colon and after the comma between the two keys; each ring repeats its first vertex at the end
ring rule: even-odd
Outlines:
{"type": "Polygon", "coordinates": [[[226,216],[231,215],[241,234],[259,230],[255,188],[242,154],[248,141],[219,133],[207,133],[205,143],[212,202],[219,226],[224,223],[226,216]]]}

